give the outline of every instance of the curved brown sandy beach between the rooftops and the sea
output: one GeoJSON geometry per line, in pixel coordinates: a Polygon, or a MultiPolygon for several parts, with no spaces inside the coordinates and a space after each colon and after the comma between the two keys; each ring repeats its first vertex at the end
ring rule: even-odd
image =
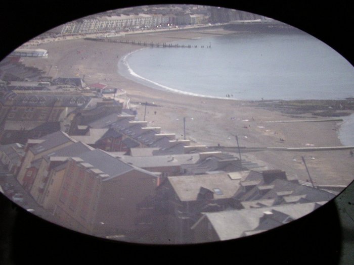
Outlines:
{"type": "MultiPolygon", "coordinates": [[[[164,43],[218,34],[237,33],[205,28],[127,34],[119,38],[164,43]]],[[[186,117],[186,135],[195,144],[236,146],[237,135],[240,145],[246,147],[341,146],[334,130],[340,122],[272,123],[270,121],[299,118],[259,108],[256,102],[172,93],[120,76],[118,61],[129,52],[142,48],[138,45],[77,39],[42,43],[35,47],[47,49],[49,56],[46,59],[24,58],[26,65],[40,68],[54,77],[84,77],[86,84],[102,82],[124,89],[131,100],[131,107],[138,110],[140,120],[144,118],[145,107],[138,102],[154,103],[155,107],[147,107],[146,120],[149,125],[161,127],[164,133],[175,133],[179,139],[183,139],[183,117],[186,117]]],[[[302,116],[314,119],[311,113],[302,116]]],[[[348,185],[353,180],[354,158],[349,155],[349,150],[257,151],[242,154],[245,160],[259,164],[256,170],[282,169],[288,175],[306,181],[305,167],[299,162],[301,155],[308,159],[306,164],[316,185],[348,185]],[[294,158],[296,161],[293,161],[294,158]]]]}

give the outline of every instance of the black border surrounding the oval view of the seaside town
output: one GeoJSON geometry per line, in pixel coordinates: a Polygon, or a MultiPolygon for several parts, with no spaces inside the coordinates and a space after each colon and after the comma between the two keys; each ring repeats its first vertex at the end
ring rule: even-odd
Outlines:
{"type": "MultiPolygon", "coordinates": [[[[12,1],[0,9],[1,54],[57,25],[106,10],[147,4],[222,6],[265,15],[324,41],[353,65],[352,4],[309,1],[12,1]]],[[[52,225],[0,196],[1,264],[337,264],[341,227],[334,201],[252,237],[187,246],[113,242],[52,225]]]]}

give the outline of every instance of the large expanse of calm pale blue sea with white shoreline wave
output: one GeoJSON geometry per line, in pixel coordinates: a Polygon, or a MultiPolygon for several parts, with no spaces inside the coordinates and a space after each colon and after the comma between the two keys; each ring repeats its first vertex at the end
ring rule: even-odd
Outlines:
{"type": "Polygon", "coordinates": [[[211,97],[354,96],[354,67],[305,33],[241,33],[174,43],[192,47],[140,49],[119,62],[119,74],[157,89],[211,97]]]}

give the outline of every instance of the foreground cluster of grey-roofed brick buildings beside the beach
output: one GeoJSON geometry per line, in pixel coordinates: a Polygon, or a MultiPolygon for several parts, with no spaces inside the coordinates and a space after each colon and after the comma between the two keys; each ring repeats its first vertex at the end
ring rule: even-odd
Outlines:
{"type": "MultiPolygon", "coordinates": [[[[8,119],[11,108],[26,113],[31,102],[35,113],[54,96],[32,91],[35,97],[24,103],[28,95],[17,93],[9,92],[13,98],[3,105],[5,126],[17,117],[8,119]]],[[[86,98],[70,96],[59,101],[70,105],[86,98]]],[[[146,243],[227,240],[286,224],[334,197],[281,170],[256,171],[233,154],[176,139],[124,113],[121,105],[86,108],[92,100],[70,105],[71,111],[59,104],[60,113],[46,116],[68,118],[67,132],[59,127],[0,147],[2,162],[62,226],[146,243]]]]}

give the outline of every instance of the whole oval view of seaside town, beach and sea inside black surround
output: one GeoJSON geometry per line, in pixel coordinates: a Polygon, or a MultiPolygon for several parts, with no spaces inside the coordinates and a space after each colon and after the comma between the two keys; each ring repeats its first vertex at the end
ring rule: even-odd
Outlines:
{"type": "Polygon", "coordinates": [[[1,191],[73,231],[228,241],[352,181],[352,66],[268,17],[118,9],[38,35],[0,70],[1,191]]]}

